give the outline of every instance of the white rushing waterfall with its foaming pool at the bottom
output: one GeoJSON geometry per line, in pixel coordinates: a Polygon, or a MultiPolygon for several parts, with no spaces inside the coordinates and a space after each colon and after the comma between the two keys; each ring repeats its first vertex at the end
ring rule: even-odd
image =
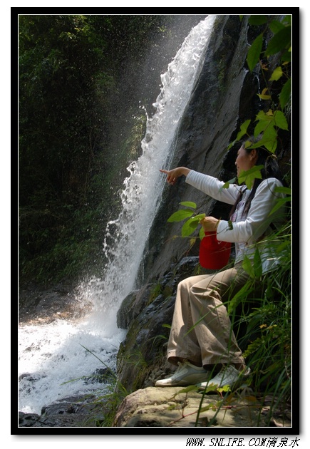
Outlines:
{"type": "Polygon", "coordinates": [[[103,277],[82,284],[79,291],[80,301],[91,302],[90,314],[82,321],[59,320],[19,329],[20,411],[40,414],[42,406],[61,398],[103,388],[85,379],[104,367],[98,358],[105,366],[115,367],[118,347],[125,337],[125,331],[116,326],[116,312],[135,288],[165,186],[159,170],[172,160],[175,133],[200,73],[215,18],[208,16],[190,31],[161,76],[156,112],[147,117],[142,154],[129,165],[120,194],[122,212],[105,230],[103,251],[108,262],[103,277]]]}

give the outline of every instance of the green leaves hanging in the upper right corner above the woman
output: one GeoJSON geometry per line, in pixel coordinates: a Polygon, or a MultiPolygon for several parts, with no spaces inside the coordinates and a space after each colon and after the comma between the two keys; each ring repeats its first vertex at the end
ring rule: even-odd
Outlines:
{"type": "MultiPolygon", "coordinates": [[[[262,134],[262,140],[250,148],[262,146],[270,153],[275,153],[279,130],[289,131],[286,112],[290,110],[291,103],[291,16],[285,16],[281,21],[274,20],[272,16],[250,16],[249,24],[254,27],[264,25],[264,30],[254,38],[249,47],[247,65],[251,72],[260,69],[264,86],[262,93],[257,96],[266,101],[266,108],[257,114],[254,120],[256,124],[253,124],[254,129],[251,131],[255,137],[262,134]],[[273,36],[269,38],[267,48],[264,49],[265,36],[269,33],[273,36]],[[279,65],[269,73],[269,66],[274,64],[274,58],[277,58],[279,65]]],[[[252,125],[252,120],[248,119],[242,123],[236,139],[229,144],[228,149],[245,135],[251,135],[248,133],[249,125],[252,125]]]]}

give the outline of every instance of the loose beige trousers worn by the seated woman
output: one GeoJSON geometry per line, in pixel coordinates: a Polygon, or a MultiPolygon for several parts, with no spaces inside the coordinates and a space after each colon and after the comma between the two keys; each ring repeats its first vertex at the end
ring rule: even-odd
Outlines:
{"type": "Polygon", "coordinates": [[[189,277],[178,284],[167,346],[170,363],[183,359],[198,366],[244,363],[223,303],[247,279],[247,272],[236,264],[223,272],[189,277]]]}

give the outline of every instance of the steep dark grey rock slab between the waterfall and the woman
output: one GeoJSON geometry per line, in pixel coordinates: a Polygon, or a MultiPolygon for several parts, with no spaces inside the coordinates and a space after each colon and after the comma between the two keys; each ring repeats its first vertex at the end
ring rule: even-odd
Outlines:
{"type": "MultiPolygon", "coordinates": [[[[186,166],[225,182],[236,176],[234,162],[239,145],[228,151],[229,143],[236,138],[244,120],[252,120],[248,129],[252,133],[257,113],[266,108],[266,103],[259,103],[257,96],[264,81],[259,81],[259,75],[247,68],[248,39],[246,20],[240,22],[239,16],[219,16],[175,136],[171,167],[186,166]]],[[[290,137],[286,134],[279,138],[282,150],[278,155],[284,173],[291,155],[290,137]]],[[[185,177],[179,178],[173,187],[167,185],[141,264],[141,284],[162,276],[170,264],[179,262],[185,254],[198,254],[197,244],[190,249],[187,239],[174,238],[180,236],[182,222],[167,223],[181,201],[193,201],[197,213],[205,212],[223,220],[228,218],[231,209],[187,185],[185,177]]]]}

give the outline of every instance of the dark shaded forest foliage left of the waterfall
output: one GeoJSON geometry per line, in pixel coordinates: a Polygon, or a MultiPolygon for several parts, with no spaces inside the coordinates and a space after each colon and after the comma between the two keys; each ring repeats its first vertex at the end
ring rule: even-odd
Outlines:
{"type": "Polygon", "coordinates": [[[74,277],[101,257],[113,191],[140,152],[137,91],[148,108],[159,93],[141,81],[145,58],[168,40],[174,56],[202,18],[182,36],[175,16],[19,15],[21,281],[74,277]]]}

